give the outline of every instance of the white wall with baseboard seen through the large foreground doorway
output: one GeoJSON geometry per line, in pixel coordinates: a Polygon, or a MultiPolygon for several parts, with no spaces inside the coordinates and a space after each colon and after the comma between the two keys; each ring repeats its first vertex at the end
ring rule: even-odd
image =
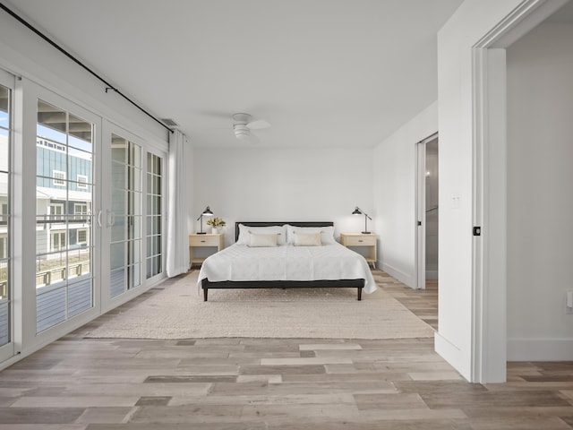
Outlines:
{"type": "Polygon", "coordinates": [[[508,357],[573,359],[573,26],[507,51],[508,357]]]}

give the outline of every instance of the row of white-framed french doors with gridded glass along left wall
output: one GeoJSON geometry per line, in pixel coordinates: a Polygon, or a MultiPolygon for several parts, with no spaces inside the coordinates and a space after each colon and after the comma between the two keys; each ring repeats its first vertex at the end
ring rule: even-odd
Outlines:
{"type": "Polygon", "coordinates": [[[164,159],[0,70],[0,366],[163,279],[164,159]]]}

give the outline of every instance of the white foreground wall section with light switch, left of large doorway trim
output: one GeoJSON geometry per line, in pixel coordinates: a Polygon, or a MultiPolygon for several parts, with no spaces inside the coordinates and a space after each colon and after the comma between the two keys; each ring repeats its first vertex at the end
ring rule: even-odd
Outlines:
{"type": "MultiPolygon", "coordinates": [[[[438,33],[440,295],[435,348],[475,380],[472,47],[521,0],[466,0],[438,33]]],[[[483,226],[484,227],[484,226],[483,226]]],[[[490,352],[490,351],[486,351],[490,352]]]]}

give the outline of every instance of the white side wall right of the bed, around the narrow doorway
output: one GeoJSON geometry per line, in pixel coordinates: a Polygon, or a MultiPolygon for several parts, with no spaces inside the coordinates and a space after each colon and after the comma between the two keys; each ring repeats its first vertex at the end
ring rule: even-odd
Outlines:
{"type": "Polygon", "coordinates": [[[438,130],[438,103],[381,142],[373,154],[379,267],[415,288],[415,144],[438,130]]]}

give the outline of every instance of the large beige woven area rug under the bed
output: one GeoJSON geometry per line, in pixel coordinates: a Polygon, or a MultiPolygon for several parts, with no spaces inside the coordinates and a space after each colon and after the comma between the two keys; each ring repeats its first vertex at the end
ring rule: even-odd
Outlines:
{"type": "Polygon", "coordinates": [[[434,331],[381,288],[356,300],[355,288],[210,289],[198,271],[167,280],[125,306],[87,338],[429,338],[434,331]],[[201,294],[200,294],[201,293],[201,294]]]}

